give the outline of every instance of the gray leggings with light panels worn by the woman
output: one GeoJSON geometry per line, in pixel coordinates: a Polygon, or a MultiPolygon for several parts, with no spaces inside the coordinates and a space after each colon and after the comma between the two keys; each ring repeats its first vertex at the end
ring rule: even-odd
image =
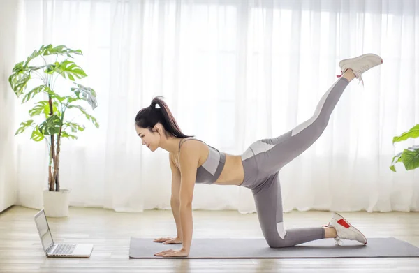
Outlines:
{"type": "Polygon", "coordinates": [[[323,95],[313,117],[278,138],[254,142],[242,154],[241,186],[253,193],[260,227],[270,247],[294,246],[325,237],[322,227],[284,229],[279,171],[321,136],[348,84],[346,78],[339,78],[323,95]]]}

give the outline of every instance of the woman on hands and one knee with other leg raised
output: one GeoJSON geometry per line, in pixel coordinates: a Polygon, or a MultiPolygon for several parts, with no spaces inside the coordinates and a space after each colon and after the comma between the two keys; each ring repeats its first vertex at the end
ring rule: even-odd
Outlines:
{"type": "Polygon", "coordinates": [[[200,140],[184,135],[168,105],[159,97],[135,117],[135,130],[150,150],[169,152],[172,170],[170,205],[175,218],[177,237],[159,238],[154,242],[182,244],[181,249],[155,253],[156,256],[188,256],[192,241],[192,197],[195,183],[236,185],[251,189],[258,219],[267,244],[272,248],[294,246],[316,239],[357,240],[367,244],[359,230],[341,215],[332,213],[328,226],[284,229],[279,185],[279,171],[293,158],[309,148],[323,133],[344,89],[354,78],[382,64],[376,54],[364,54],[339,62],[341,75],[318,103],[314,116],[278,138],[254,142],[242,155],[220,152],[200,140]],[[159,105],[159,108],[156,108],[159,105]],[[196,141],[187,141],[196,140],[196,141]]]}

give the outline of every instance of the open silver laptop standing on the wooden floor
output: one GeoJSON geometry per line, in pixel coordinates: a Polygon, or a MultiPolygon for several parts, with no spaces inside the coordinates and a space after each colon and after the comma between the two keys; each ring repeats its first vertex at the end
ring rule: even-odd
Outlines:
{"type": "Polygon", "coordinates": [[[54,244],[44,209],[34,218],[47,257],[90,257],[93,244],[54,244]]]}

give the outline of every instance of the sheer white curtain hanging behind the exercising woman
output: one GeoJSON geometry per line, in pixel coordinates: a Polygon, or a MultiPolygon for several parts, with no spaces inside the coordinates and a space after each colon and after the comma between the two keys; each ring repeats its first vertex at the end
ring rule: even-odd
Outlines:
{"type": "MultiPolygon", "coordinates": [[[[80,82],[98,94],[101,127],[80,117],[87,129],[61,147],[73,206],[170,208],[168,153],[134,130],[153,96],[184,133],[242,154],[309,119],[339,60],[374,52],[383,66],[350,84],[321,138],[281,170],[284,211],[419,210],[418,170],[388,168],[418,144],[392,138],[419,122],[419,1],[25,0],[20,31],[22,60],[42,44],[81,49],[80,82]]],[[[16,128],[31,106],[17,107],[16,128]]],[[[46,146],[15,138],[18,202],[42,207],[46,146]]],[[[255,206],[249,189],[196,184],[193,209],[255,206]]]]}

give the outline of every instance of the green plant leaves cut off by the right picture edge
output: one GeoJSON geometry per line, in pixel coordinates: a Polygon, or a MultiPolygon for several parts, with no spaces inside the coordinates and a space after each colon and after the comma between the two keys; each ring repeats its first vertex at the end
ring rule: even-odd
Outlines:
{"type": "MultiPolygon", "coordinates": [[[[408,138],[418,138],[419,137],[419,124],[413,126],[409,131],[402,133],[401,135],[395,136],[393,138],[393,145],[395,142],[400,142],[407,140],[408,138]]],[[[412,147],[404,149],[402,152],[399,152],[392,158],[392,164],[390,165],[390,170],[396,172],[395,164],[397,162],[402,162],[406,170],[413,170],[419,167],[419,145],[413,145],[412,147]]]]}

